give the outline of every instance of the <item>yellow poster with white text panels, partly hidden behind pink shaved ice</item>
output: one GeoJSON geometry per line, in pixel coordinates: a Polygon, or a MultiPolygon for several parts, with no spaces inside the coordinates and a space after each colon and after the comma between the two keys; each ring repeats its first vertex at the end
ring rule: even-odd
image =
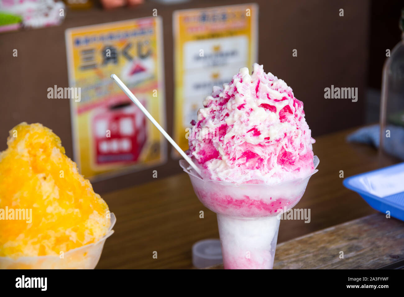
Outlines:
{"type": "Polygon", "coordinates": [[[173,13],[174,139],[183,150],[188,149],[185,129],[213,86],[229,83],[241,67],[257,62],[257,21],[257,4],[173,13]]]}

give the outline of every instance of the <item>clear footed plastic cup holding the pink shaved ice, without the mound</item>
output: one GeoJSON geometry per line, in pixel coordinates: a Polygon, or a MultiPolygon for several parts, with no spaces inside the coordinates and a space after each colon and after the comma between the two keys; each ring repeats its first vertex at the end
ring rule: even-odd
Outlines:
{"type": "MultiPolygon", "coordinates": [[[[314,167],[320,160],[314,156],[314,167]]],[[[204,180],[184,161],[198,199],[217,213],[225,269],[271,269],[280,213],[303,196],[311,175],[275,185],[233,184],[204,180]]]]}

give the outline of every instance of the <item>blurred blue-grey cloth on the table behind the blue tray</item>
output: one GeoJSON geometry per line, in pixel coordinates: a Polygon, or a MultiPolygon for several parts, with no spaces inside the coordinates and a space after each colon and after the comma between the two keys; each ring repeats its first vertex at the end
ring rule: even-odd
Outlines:
{"type": "MultiPolygon", "coordinates": [[[[404,160],[404,127],[387,125],[386,130],[390,131],[390,137],[385,137],[383,140],[384,150],[397,158],[404,160]]],[[[387,132],[384,131],[384,135],[387,132]]],[[[372,125],[351,133],[347,137],[349,142],[359,142],[380,146],[380,126],[372,125]]]]}

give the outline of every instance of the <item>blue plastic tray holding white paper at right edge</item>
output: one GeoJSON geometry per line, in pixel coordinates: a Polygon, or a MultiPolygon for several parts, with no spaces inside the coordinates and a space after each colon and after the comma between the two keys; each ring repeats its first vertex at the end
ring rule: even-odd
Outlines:
{"type": "MultiPolygon", "coordinates": [[[[381,211],[386,214],[390,211],[391,217],[404,221],[404,179],[401,179],[401,175],[404,173],[404,163],[388,166],[385,168],[361,173],[351,177],[347,177],[343,180],[343,184],[349,190],[355,191],[377,211],[381,211]],[[400,177],[398,177],[400,174],[400,177]],[[361,180],[372,177],[375,179],[375,175],[387,177],[396,177],[392,183],[396,185],[400,190],[396,193],[389,193],[386,195],[377,195],[371,193],[371,190],[366,189],[361,183],[361,180]]],[[[393,178],[391,178],[393,180],[393,178]]]]}

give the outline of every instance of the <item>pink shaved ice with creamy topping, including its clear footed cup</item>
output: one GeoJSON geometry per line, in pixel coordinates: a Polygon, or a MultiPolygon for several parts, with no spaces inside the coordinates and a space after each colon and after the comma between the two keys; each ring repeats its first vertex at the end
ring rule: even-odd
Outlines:
{"type": "Polygon", "coordinates": [[[199,200],[217,213],[225,269],[272,269],[280,215],[302,198],[319,163],[303,103],[263,66],[214,87],[193,121],[184,161],[199,200]],[[208,137],[206,137],[206,135],[208,137]]]}

